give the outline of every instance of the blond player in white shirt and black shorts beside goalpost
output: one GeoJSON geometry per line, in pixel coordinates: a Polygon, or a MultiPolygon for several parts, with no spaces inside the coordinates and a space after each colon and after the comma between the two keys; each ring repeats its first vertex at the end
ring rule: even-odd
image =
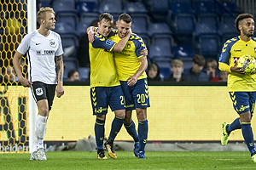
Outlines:
{"type": "Polygon", "coordinates": [[[60,35],[50,31],[55,28],[53,8],[40,8],[37,20],[40,27],[22,39],[13,63],[21,84],[32,89],[33,98],[38,105],[38,119],[30,160],[46,160],[44,134],[47,118],[53,104],[55,91],[59,98],[64,94],[63,50],[60,35]],[[22,76],[20,69],[20,58],[24,54],[29,63],[28,79],[22,76]]]}

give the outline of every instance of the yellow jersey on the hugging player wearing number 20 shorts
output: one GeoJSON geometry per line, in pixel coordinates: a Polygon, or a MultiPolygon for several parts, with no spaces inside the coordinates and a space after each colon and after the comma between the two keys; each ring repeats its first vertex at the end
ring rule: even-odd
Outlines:
{"type": "MultiPolygon", "coordinates": [[[[116,30],[113,30],[109,34],[108,39],[116,43],[121,40],[116,30]]],[[[143,57],[143,55],[141,55],[139,52],[144,48],[145,44],[143,39],[138,37],[136,34],[131,34],[131,37],[126,43],[123,51],[113,52],[113,60],[120,81],[127,81],[129,77],[133,76],[137,72],[139,66],[141,65],[139,58],[143,57]]],[[[144,71],[143,74],[138,77],[138,80],[146,77],[147,74],[144,71]]]]}

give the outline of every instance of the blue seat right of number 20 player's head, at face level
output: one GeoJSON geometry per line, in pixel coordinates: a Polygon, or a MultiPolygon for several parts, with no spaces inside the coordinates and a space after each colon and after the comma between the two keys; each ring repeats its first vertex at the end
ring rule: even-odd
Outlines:
{"type": "Polygon", "coordinates": [[[166,23],[150,23],[148,24],[148,35],[151,37],[154,35],[171,36],[172,31],[166,23]]]}

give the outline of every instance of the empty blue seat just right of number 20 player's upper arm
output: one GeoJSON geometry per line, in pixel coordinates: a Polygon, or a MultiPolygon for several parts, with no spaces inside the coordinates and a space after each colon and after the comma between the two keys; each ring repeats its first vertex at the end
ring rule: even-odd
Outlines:
{"type": "Polygon", "coordinates": [[[172,60],[172,48],[168,46],[155,46],[151,45],[148,47],[148,58],[152,61],[155,60],[172,60]]]}

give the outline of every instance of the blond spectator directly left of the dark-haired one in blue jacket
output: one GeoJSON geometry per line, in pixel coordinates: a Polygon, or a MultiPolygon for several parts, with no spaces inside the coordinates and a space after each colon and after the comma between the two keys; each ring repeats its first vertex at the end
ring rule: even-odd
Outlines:
{"type": "Polygon", "coordinates": [[[172,82],[186,81],[186,77],[183,74],[183,71],[184,71],[183,61],[181,59],[172,59],[171,71],[172,71],[172,74],[165,81],[172,81],[172,82]]]}

